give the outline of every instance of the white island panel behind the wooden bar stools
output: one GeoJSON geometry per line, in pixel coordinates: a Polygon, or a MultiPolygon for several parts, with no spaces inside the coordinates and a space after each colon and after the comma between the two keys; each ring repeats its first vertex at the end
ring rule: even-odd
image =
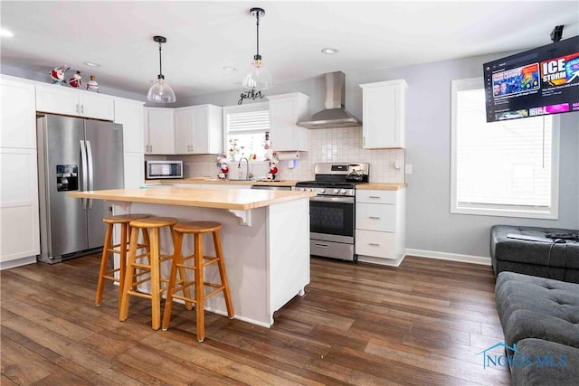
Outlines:
{"type": "MultiPolygon", "coordinates": [[[[156,216],[176,217],[179,221],[218,221],[223,225],[220,231],[223,258],[229,286],[232,293],[233,311],[236,319],[270,327],[273,324],[269,307],[269,287],[267,268],[266,208],[252,210],[252,226],[240,225],[240,219],[223,209],[197,208],[144,202],[116,202],[115,213],[148,213],[156,216]]],[[[173,253],[173,243],[168,231],[161,235],[162,253],[173,253]]],[[[193,253],[192,236],[185,236],[183,253],[193,253]]],[[[214,256],[213,240],[204,237],[204,254],[214,256]]],[[[162,275],[168,277],[169,266],[162,268],[162,275]]],[[[216,280],[219,273],[215,265],[205,268],[205,281],[216,280]]],[[[206,288],[209,290],[209,288],[206,288]]],[[[205,309],[220,315],[227,315],[223,293],[209,298],[205,309]]],[[[130,317],[130,315],[129,315],[130,317]]],[[[195,318],[195,315],[192,315],[195,318]]],[[[193,320],[193,319],[192,319],[193,320]]]]}

